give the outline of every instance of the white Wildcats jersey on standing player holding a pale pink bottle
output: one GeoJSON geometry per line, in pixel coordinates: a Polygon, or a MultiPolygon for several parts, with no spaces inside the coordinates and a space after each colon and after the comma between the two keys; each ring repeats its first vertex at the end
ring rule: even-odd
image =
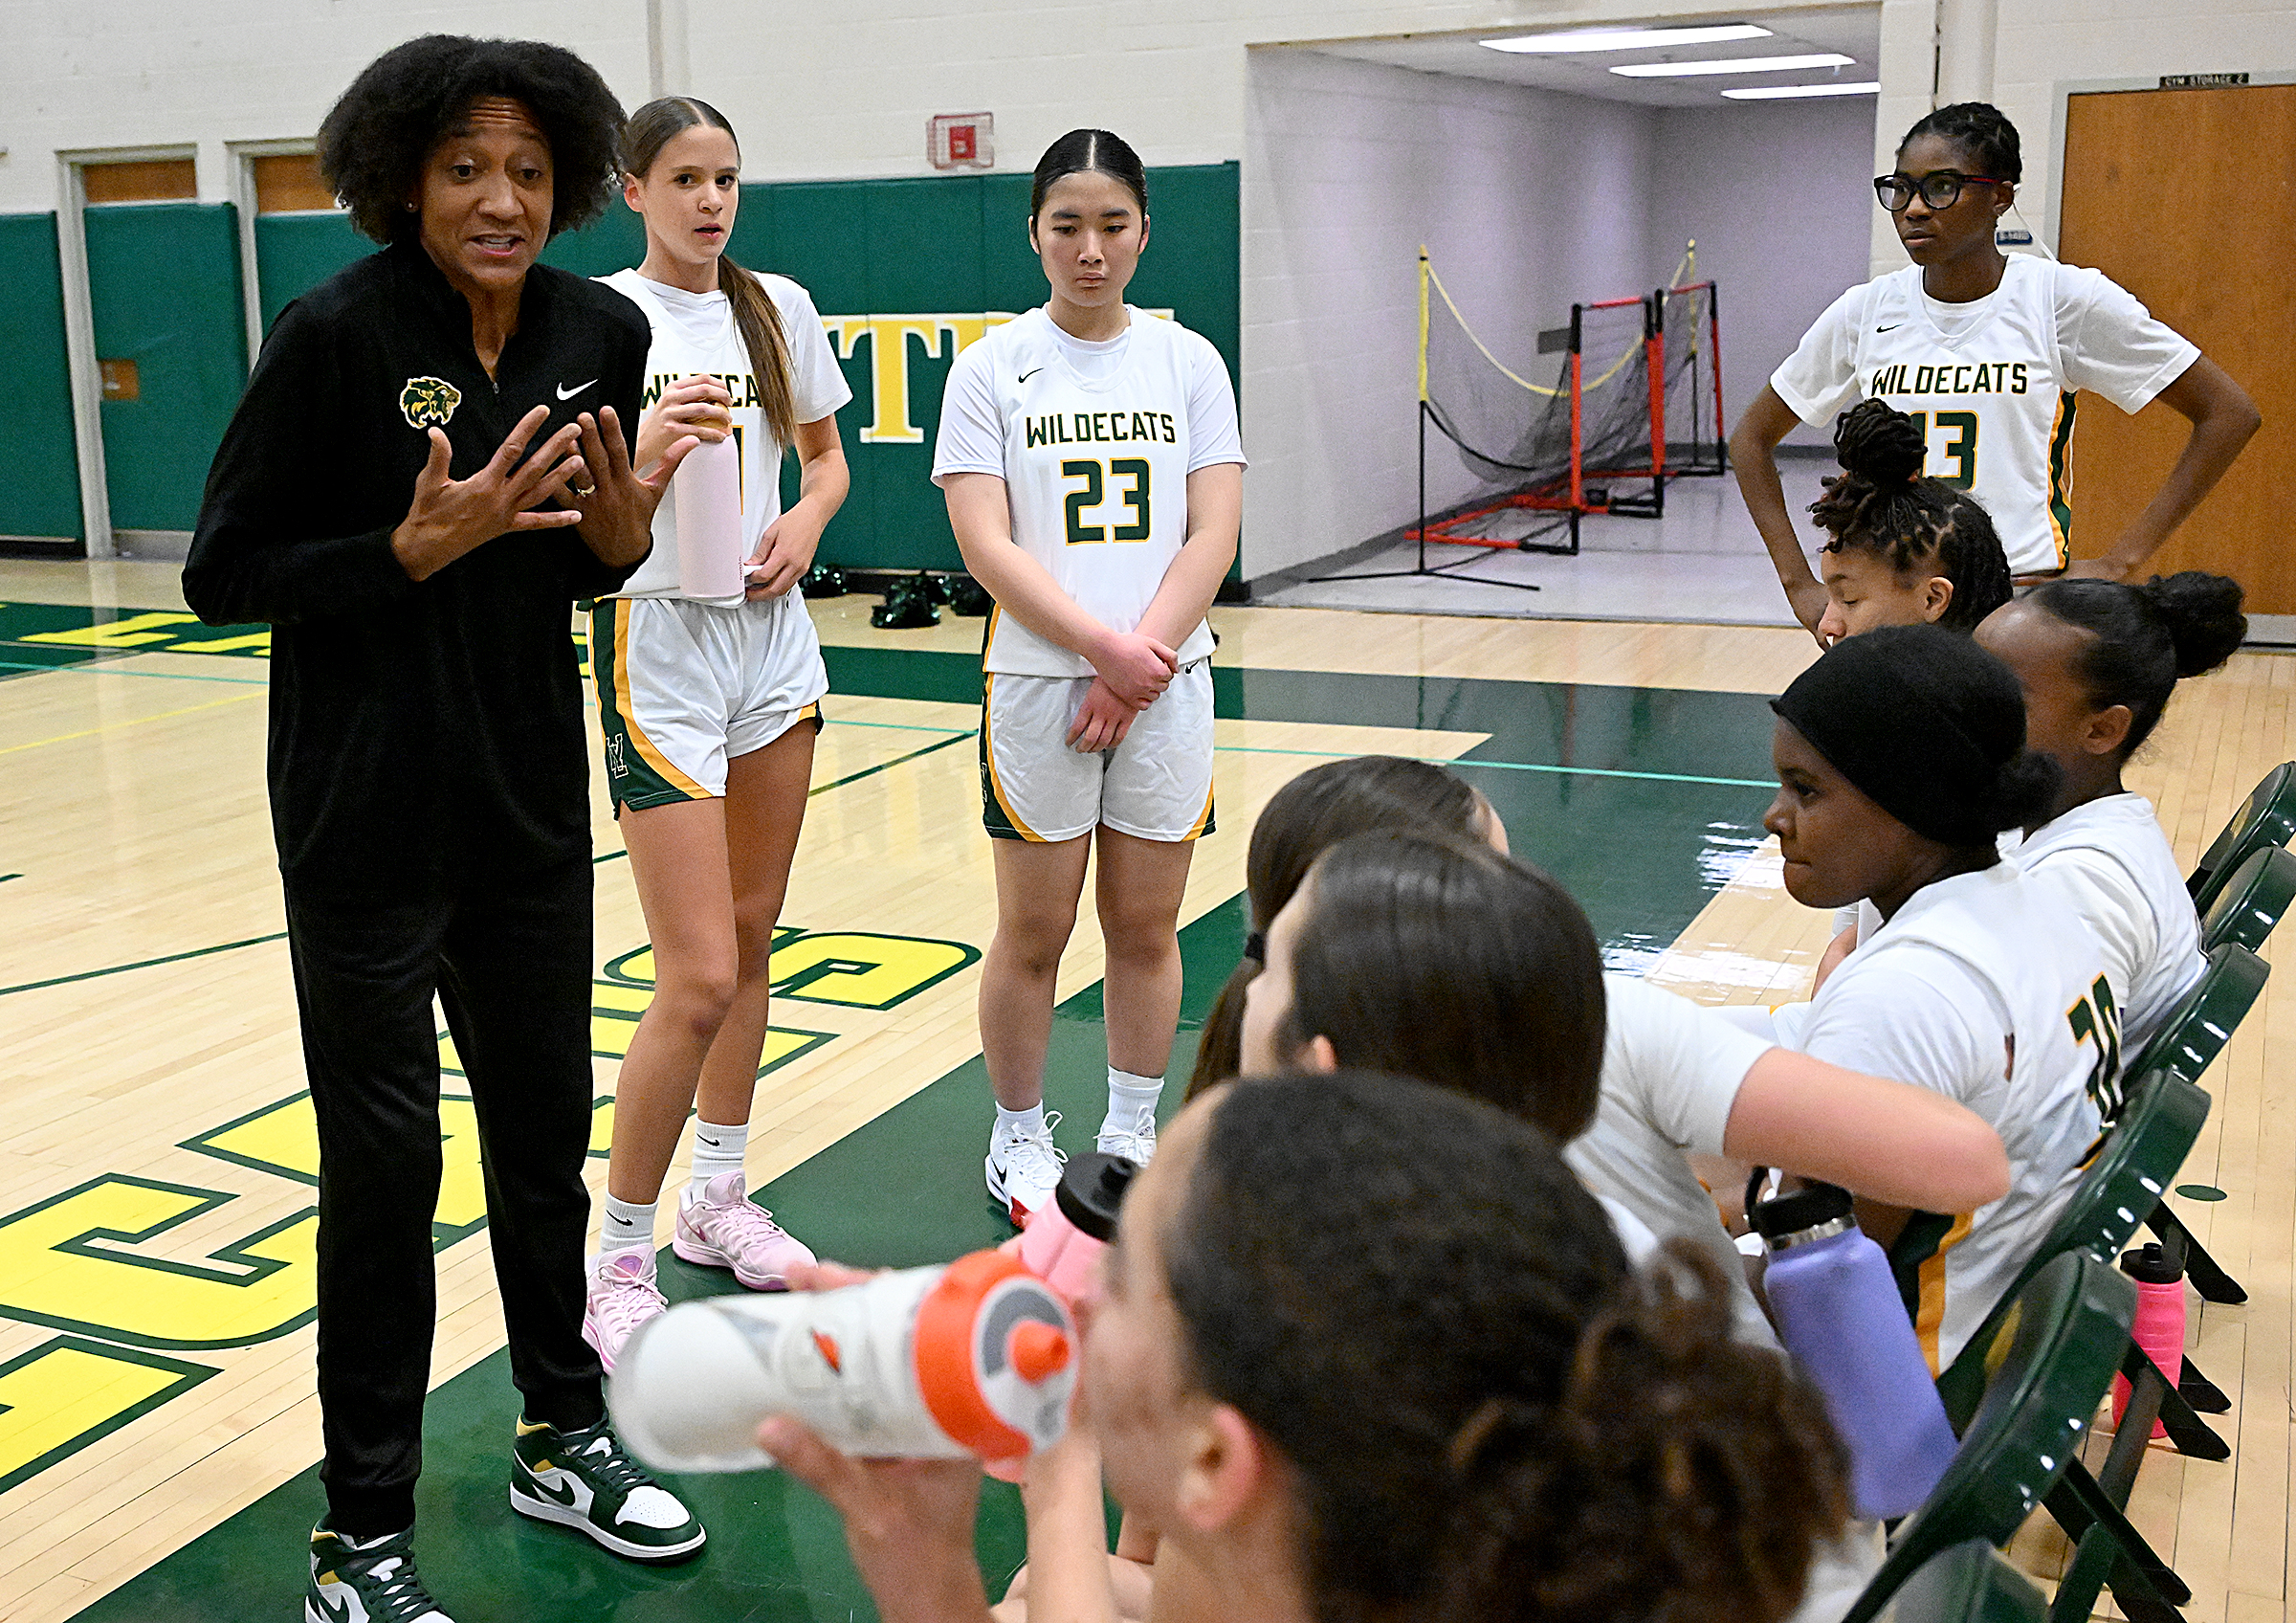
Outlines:
{"type": "MultiPolygon", "coordinates": [[[[765,404],[732,303],[726,294],[689,294],[682,287],[664,287],[636,269],[597,280],[638,305],[647,326],[654,328],[654,342],[645,351],[647,409],[661,399],[661,390],[696,372],[716,376],[732,395],[732,432],[742,448],[742,544],[755,551],[758,537],[781,517],[783,445],[765,422],[765,404]]],[[[822,317],[806,289],[790,278],[760,275],[758,280],[765,282],[774,310],[781,314],[797,420],[820,422],[854,397],[845,372],[829,351],[822,317]]],[[[636,445],[638,425],[625,422],[622,434],[636,445]]],[[[673,473],[670,480],[675,482],[675,477],[673,473]]],[[[684,597],[677,585],[677,503],[670,496],[664,496],[654,510],[654,551],[645,556],[618,597],[684,597]]],[[[735,606],[742,595],[696,601],[735,606]]]]}

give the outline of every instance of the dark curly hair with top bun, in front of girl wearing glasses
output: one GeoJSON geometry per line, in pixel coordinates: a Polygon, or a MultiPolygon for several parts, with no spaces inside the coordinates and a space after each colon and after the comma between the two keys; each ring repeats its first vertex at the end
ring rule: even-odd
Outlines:
{"type": "Polygon", "coordinates": [[[1938,620],[1947,631],[1975,631],[2009,601],[2009,556],[1993,517],[1945,480],[1922,477],[1929,441],[1922,427],[1885,399],[1862,399],[1835,418],[1841,473],[1809,514],[1832,537],[1825,551],[1885,558],[1903,578],[1942,574],[1954,599],[1938,620]]]}

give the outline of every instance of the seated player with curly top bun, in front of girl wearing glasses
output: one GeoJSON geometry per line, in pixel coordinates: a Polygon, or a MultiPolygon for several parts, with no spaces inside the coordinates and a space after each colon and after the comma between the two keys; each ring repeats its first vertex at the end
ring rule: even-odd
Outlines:
{"type": "Polygon", "coordinates": [[[1922,477],[1926,455],[1922,427],[1887,402],[1860,402],[1835,422],[1841,473],[1809,505],[1832,537],[1818,549],[1818,640],[1885,624],[1975,631],[2009,601],[1993,519],[1965,491],[1922,477]]]}

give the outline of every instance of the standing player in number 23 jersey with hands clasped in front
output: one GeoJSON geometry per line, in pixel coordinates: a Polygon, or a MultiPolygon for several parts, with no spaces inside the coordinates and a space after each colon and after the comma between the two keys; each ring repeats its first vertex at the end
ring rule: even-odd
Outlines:
{"type": "Polygon", "coordinates": [[[996,599],[983,650],[980,799],[996,937],[980,1051],[996,1090],[987,1187],[1015,1221],[1052,1196],[1052,987],[1097,845],[1109,1109],[1100,1148],[1146,1159],[1180,1017],[1180,893],[1212,826],[1212,629],[1244,452],[1219,351],[1125,303],[1148,174],[1107,131],[1035,165],[1029,243],[1052,301],[948,370],[932,480],[996,599]]]}

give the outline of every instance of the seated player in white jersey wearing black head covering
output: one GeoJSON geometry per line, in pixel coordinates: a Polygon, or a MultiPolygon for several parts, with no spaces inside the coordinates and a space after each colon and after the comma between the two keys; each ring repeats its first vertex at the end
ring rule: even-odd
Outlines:
{"type": "Polygon", "coordinates": [[[1915,1331],[1945,1368],[2119,1104],[2103,953],[1995,847],[2039,820],[2062,774],[2025,748],[2009,668],[1938,627],[1848,638],[1773,709],[1779,792],[1763,824],[1786,891],[1805,907],[1871,900],[1885,921],[1809,1003],[1777,1010],[1775,1035],[1958,1100],[2009,1150],[2009,1194],[1972,1214],[1860,1212],[1917,1288],[1915,1331]]]}

